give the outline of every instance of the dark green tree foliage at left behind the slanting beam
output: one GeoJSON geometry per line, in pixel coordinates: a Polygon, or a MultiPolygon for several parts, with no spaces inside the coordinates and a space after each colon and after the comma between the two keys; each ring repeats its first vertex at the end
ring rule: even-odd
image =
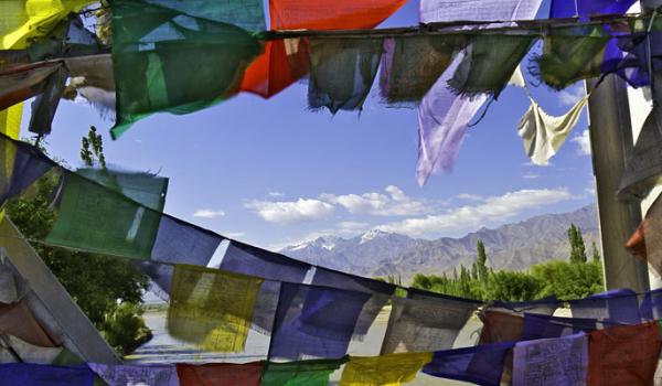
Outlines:
{"type": "MultiPolygon", "coordinates": [[[[92,130],[90,130],[92,132],[92,130]]],[[[95,154],[97,160],[98,154],[95,154]]],[[[52,207],[58,175],[51,172],[29,192],[7,203],[8,216],[31,240],[46,237],[56,217],[52,207]]],[[[83,312],[120,354],[126,355],[151,339],[145,325],[142,292],[148,278],[131,262],[96,254],[53,248],[31,243],[83,312]]]]}

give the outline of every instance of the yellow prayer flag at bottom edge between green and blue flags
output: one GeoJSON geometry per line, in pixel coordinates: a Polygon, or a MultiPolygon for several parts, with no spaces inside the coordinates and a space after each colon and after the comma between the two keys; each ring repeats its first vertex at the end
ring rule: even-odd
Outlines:
{"type": "Polygon", "coordinates": [[[433,353],[350,356],[340,386],[399,386],[413,380],[433,353]]]}

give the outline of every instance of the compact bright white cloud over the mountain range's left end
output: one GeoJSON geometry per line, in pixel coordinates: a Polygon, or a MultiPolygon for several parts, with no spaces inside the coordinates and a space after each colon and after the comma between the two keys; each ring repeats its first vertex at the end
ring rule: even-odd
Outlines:
{"type": "Polygon", "coordinates": [[[277,224],[299,224],[313,219],[322,219],[333,214],[333,205],[319,200],[297,201],[249,201],[247,208],[256,211],[263,219],[277,224]]]}

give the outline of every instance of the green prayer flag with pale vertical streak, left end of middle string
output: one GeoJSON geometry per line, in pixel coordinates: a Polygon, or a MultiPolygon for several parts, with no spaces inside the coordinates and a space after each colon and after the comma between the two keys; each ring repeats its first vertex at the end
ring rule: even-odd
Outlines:
{"type": "Polygon", "coordinates": [[[149,259],[161,214],[75,173],[66,175],[58,215],[46,243],[149,259]]]}

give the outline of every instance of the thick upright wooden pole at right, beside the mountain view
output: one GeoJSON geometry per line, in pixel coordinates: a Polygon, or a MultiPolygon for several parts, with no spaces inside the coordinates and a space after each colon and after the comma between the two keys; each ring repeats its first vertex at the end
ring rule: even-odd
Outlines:
{"type": "Polygon", "coordinates": [[[596,79],[586,82],[587,90],[592,90],[588,120],[605,286],[607,289],[647,291],[650,287],[648,266],[626,249],[628,238],[641,222],[641,207],[638,203],[624,203],[616,197],[626,160],[632,151],[627,84],[616,75],[606,77],[597,88],[596,84],[596,79]]]}

